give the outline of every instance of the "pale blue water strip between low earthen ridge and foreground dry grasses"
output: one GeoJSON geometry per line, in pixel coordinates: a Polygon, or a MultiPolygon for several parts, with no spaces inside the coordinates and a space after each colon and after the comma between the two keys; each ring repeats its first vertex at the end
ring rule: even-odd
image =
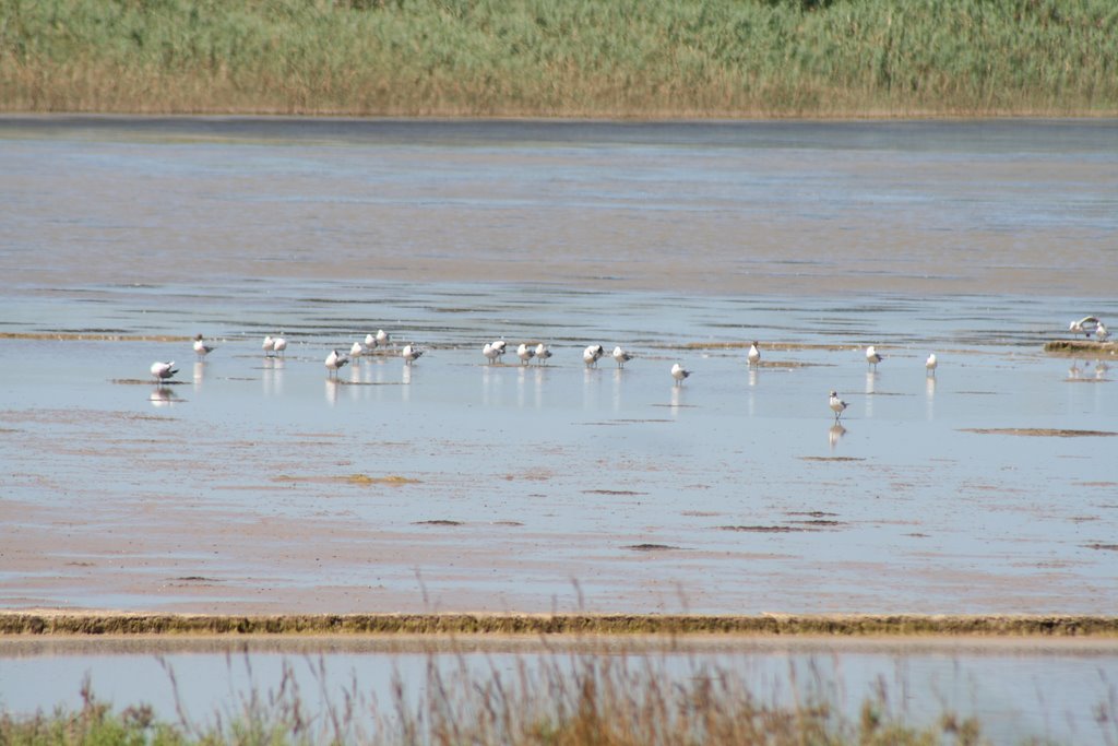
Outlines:
{"type": "MultiPolygon", "coordinates": [[[[475,648],[468,639],[454,643],[457,653],[432,655],[395,641],[288,641],[307,652],[283,652],[268,645],[249,648],[248,657],[240,652],[243,643],[229,643],[226,653],[208,650],[215,643],[206,641],[172,642],[158,658],[153,652],[134,652],[134,648],[129,652],[126,642],[105,644],[101,653],[66,651],[65,646],[54,650],[50,643],[51,654],[29,650],[40,644],[0,645],[0,703],[9,711],[49,711],[56,703],[78,708],[82,680],[88,674],[94,692],[117,709],[149,702],[157,714],[176,720],[178,701],[192,721],[206,723],[217,712],[222,717],[238,712],[239,702],[254,687],[265,698],[278,692],[286,669],[307,712],[321,715],[328,707],[341,707],[345,693],[352,692],[358,697],[357,723],[367,729],[372,720],[363,718],[370,717],[371,703],[377,702],[385,715],[392,711],[394,676],[402,682],[406,701],[415,711],[418,698],[429,689],[425,686],[428,664],[456,692],[466,688],[463,674],[481,682],[499,674],[510,686],[520,681],[522,671],[529,676],[541,669],[569,672],[578,660],[562,642],[552,643],[553,652],[540,653],[510,642],[475,648]],[[174,674],[177,696],[168,671],[174,674]]],[[[736,645],[707,641],[694,649],[645,654],[636,649],[624,657],[614,650],[604,663],[681,684],[702,672],[724,671],[749,687],[759,703],[792,706],[816,696],[837,706],[852,721],[858,721],[861,703],[883,688],[888,711],[913,725],[935,725],[950,710],[961,717],[977,716],[983,735],[994,743],[1018,743],[1030,736],[1069,744],[1109,743],[1114,724],[1099,726],[1093,708],[1112,697],[1114,681],[1103,672],[1115,670],[1118,654],[1103,642],[1077,645],[993,641],[982,648],[966,642],[947,646],[869,640],[761,640],[736,645]]]]}

